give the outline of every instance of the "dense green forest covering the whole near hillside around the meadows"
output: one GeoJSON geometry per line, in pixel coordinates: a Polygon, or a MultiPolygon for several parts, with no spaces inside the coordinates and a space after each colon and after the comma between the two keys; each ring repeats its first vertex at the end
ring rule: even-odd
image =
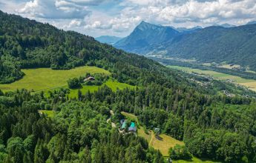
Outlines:
{"type": "Polygon", "coordinates": [[[121,111],[134,113],[146,128],[159,127],[185,142],[186,152],[194,156],[256,162],[255,92],[214,80],[204,87],[186,73],[91,37],[0,15],[1,82],[21,78],[24,67],[67,69],[88,64],[137,86],[116,92],[103,86],[93,93],[78,92],[77,99],[69,98],[66,90],[54,90],[49,96],[0,91],[0,162],[164,162],[160,151],[148,147],[145,139],[112,128],[106,122],[110,110],[114,122],[124,118],[121,111]],[[41,41],[33,43],[32,38],[41,41]],[[15,47],[17,51],[21,47],[22,53],[16,53],[15,47]],[[236,96],[221,94],[223,89],[236,96]],[[45,109],[53,110],[53,117],[40,111],[45,109]]]}

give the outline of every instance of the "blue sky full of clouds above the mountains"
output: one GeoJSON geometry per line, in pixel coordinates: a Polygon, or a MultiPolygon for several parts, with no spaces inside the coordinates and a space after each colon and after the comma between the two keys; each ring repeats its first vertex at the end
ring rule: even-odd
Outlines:
{"type": "Polygon", "coordinates": [[[246,24],[256,0],[0,0],[0,10],[89,36],[127,36],[140,21],[174,27],[246,24]]]}

